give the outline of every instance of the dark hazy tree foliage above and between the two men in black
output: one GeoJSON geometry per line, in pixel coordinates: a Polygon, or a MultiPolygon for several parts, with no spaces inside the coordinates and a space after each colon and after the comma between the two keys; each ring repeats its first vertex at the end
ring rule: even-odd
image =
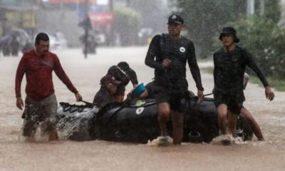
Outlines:
{"type": "MultiPolygon", "coordinates": [[[[281,17],[280,0],[255,0],[255,13],[278,23],[281,17]]],[[[247,0],[172,0],[176,12],[185,19],[188,36],[197,46],[201,58],[212,56],[214,43],[222,27],[247,13],[247,0]],[[199,50],[200,49],[200,50],[199,50]]]]}

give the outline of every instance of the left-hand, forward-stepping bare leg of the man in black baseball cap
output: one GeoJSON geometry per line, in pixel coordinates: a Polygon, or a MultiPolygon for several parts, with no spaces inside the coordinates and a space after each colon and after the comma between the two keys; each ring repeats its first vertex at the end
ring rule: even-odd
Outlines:
{"type": "Polygon", "coordinates": [[[163,102],[158,104],[158,123],[160,125],[160,135],[167,136],[167,122],[170,118],[170,104],[163,102]]]}

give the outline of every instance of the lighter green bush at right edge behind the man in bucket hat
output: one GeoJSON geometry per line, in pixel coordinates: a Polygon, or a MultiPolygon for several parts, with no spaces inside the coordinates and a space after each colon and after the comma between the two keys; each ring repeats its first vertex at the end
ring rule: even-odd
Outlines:
{"type": "Polygon", "coordinates": [[[285,78],[285,28],[264,16],[247,16],[230,24],[237,29],[240,44],[254,54],[267,76],[285,78]]]}

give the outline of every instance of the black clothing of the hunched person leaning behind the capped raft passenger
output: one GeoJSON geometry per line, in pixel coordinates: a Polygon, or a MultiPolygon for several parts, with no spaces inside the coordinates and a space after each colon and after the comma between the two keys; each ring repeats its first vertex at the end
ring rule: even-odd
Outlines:
{"type": "Polygon", "coordinates": [[[118,68],[118,66],[111,66],[108,69],[108,75],[115,77],[116,80],[121,81],[120,85],[118,85],[117,92],[115,95],[121,95],[125,93],[125,86],[130,83],[130,81],[134,84],[138,84],[138,78],[135,71],[132,68],[128,68],[128,70],[123,70],[123,68],[118,68]]]}

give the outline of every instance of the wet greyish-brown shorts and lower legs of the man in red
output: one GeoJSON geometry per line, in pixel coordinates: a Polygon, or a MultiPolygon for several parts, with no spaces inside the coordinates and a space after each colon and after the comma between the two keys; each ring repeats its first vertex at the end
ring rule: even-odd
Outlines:
{"type": "Polygon", "coordinates": [[[41,133],[50,133],[56,130],[56,110],[58,104],[56,95],[50,95],[43,100],[33,100],[26,97],[23,135],[33,137],[38,125],[41,125],[41,133]]]}

